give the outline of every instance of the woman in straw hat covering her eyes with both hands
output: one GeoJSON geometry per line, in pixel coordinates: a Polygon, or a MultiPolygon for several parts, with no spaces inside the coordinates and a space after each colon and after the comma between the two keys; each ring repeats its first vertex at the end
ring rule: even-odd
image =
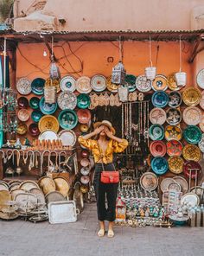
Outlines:
{"type": "Polygon", "coordinates": [[[113,237],[118,183],[106,184],[100,182],[100,173],[103,170],[103,165],[105,170],[115,170],[112,163],[112,154],[113,152],[120,153],[124,151],[128,145],[128,141],[114,136],[115,129],[112,127],[112,123],[107,120],[97,122],[93,127],[94,131],[85,136],[80,136],[79,142],[87,149],[92,150],[94,157],[95,173],[93,186],[96,193],[97,212],[100,225],[98,235],[99,237],[105,235],[105,221],[109,221],[108,237],[113,237]],[[96,137],[96,139],[91,139],[92,137],[96,137]],[[105,195],[107,198],[107,208],[105,208],[105,195]]]}

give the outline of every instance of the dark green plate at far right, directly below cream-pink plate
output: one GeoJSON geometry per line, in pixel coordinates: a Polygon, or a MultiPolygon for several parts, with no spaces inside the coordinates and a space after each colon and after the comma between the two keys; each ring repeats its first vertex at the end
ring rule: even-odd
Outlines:
{"type": "Polygon", "coordinates": [[[198,126],[188,125],[183,131],[183,137],[189,144],[198,144],[202,138],[202,132],[198,126]]]}

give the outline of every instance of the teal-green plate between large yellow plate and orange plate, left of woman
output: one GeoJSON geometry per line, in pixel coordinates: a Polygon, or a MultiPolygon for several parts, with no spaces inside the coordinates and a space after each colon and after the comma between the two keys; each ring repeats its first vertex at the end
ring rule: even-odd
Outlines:
{"type": "Polygon", "coordinates": [[[61,111],[58,120],[61,128],[65,130],[73,129],[78,123],[78,117],[76,112],[70,109],[65,109],[61,111]]]}

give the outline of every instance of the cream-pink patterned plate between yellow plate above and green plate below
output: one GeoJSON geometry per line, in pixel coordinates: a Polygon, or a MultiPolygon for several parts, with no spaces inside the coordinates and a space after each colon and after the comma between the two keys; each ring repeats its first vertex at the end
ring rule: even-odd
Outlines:
{"type": "Polygon", "coordinates": [[[198,125],[201,122],[202,112],[196,106],[188,106],[182,112],[182,118],[187,125],[198,125]]]}

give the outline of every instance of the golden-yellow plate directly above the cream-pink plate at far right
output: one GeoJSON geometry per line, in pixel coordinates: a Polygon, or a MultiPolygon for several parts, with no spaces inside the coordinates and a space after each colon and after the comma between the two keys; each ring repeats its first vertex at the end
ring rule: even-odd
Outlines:
{"type": "Polygon", "coordinates": [[[182,93],[182,100],[187,106],[196,106],[201,102],[201,92],[196,88],[188,87],[182,93]]]}

